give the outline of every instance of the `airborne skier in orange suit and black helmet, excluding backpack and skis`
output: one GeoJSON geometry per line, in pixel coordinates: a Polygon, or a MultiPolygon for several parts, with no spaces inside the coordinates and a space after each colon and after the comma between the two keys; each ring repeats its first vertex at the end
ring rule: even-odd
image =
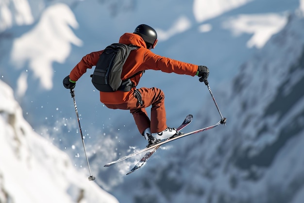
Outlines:
{"type": "MultiPolygon", "coordinates": [[[[137,49],[131,51],[123,65],[121,79],[130,78],[132,88],[129,92],[100,92],[100,101],[110,109],[130,110],[134,116],[135,124],[139,132],[149,141],[163,140],[174,136],[176,129],[169,128],[166,124],[165,95],[158,88],[139,88],[136,86],[145,70],[160,70],[166,73],[198,75],[207,80],[209,70],[206,66],[198,66],[173,60],[150,51],[156,46],[156,31],[145,24],[138,25],[134,33],[125,33],[119,43],[135,45],[137,49]],[[151,106],[151,120],[147,115],[146,108],[151,106]]],[[[63,84],[67,89],[73,89],[76,81],[86,72],[96,66],[103,50],[85,55],[73,68],[70,74],[64,78],[63,84]]]]}

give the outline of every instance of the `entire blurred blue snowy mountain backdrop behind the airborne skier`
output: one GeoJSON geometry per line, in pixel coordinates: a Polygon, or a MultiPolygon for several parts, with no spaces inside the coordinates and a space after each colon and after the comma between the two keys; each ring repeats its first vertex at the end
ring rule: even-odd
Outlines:
{"type": "MultiPolygon", "coordinates": [[[[75,99],[96,183],[124,203],[300,203],[303,10],[303,0],[3,1],[0,76],[34,131],[87,175],[62,79],[84,55],[149,24],[158,33],[155,54],[209,67],[227,127],[164,146],[130,176],[135,159],[104,168],[146,141],[129,112],[102,106],[88,71],[75,99]]],[[[147,71],[139,85],[165,92],[170,127],[189,113],[185,131],[219,120],[197,78],[147,71]]]]}

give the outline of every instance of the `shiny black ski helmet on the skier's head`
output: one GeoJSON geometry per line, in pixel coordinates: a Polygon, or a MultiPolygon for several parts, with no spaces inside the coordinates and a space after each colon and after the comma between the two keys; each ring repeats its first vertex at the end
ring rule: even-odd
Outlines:
{"type": "Polygon", "coordinates": [[[143,40],[146,42],[148,49],[149,48],[154,49],[154,47],[156,46],[157,33],[149,25],[145,25],[145,24],[138,25],[134,30],[134,34],[137,34],[143,38],[143,40]]]}

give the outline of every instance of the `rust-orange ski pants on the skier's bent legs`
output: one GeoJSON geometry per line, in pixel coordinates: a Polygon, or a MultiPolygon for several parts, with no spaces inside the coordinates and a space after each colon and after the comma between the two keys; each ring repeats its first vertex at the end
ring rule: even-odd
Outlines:
{"type": "Polygon", "coordinates": [[[135,93],[130,95],[128,101],[122,104],[104,104],[110,109],[130,110],[133,114],[135,124],[143,134],[145,129],[151,128],[151,132],[160,132],[167,128],[165,94],[158,88],[140,88],[137,89],[142,97],[143,104],[140,106],[135,93]],[[151,107],[151,120],[147,114],[146,108],[151,107]]]}

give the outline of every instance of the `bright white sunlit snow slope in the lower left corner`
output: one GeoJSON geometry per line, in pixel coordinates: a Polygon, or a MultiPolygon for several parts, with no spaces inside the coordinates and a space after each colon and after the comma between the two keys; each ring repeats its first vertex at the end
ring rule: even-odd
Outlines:
{"type": "Polygon", "coordinates": [[[118,203],[34,132],[2,80],[0,98],[1,203],[118,203]]]}

